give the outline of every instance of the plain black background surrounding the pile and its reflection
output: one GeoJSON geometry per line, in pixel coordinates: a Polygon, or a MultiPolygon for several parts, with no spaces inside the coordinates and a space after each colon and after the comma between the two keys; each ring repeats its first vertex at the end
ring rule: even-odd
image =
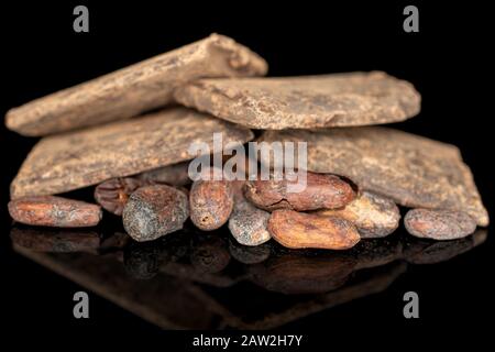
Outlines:
{"type": "MultiPolygon", "coordinates": [[[[397,128],[458,145],[493,215],[493,21],[487,9],[473,2],[410,2],[419,8],[419,33],[403,31],[409,2],[2,3],[0,112],[218,32],[266,58],[272,76],[380,69],[411,81],[422,95],[422,110],[397,128]],[[89,33],[73,31],[73,9],[81,3],[89,8],[89,33]]],[[[3,125],[0,131],[2,333],[158,332],[98,297],[91,300],[91,319],[74,319],[77,285],[10,251],[8,185],[36,140],[3,125]]],[[[308,333],[312,344],[336,339],[399,348],[389,340],[393,336],[404,344],[433,336],[440,343],[480,341],[494,314],[490,235],[482,246],[448,263],[415,266],[384,294],[290,329],[308,333]],[[418,320],[402,315],[407,290],[419,294],[418,320]]]]}

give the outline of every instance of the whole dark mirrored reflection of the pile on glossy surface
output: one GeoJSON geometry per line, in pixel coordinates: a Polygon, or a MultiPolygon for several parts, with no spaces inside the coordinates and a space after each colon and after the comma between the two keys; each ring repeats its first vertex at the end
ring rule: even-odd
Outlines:
{"type": "Polygon", "coordinates": [[[410,264],[448,261],[486,231],[433,242],[403,233],[350,251],[249,248],[223,230],[138,243],[122,232],[15,226],[20,254],[162,328],[265,329],[385,290],[410,264]]]}

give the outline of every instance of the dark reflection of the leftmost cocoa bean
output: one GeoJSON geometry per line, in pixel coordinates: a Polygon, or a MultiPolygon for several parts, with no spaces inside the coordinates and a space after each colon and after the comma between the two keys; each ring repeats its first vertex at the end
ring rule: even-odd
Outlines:
{"type": "Polygon", "coordinates": [[[43,229],[15,226],[10,230],[13,243],[38,252],[97,253],[100,237],[95,231],[43,229]]]}

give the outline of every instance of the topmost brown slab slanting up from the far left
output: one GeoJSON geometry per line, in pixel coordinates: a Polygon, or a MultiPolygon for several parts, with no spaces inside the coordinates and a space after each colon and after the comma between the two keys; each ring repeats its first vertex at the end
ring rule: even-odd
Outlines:
{"type": "Polygon", "coordinates": [[[46,135],[165,106],[179,85],[201,77],[265,75],[263,58],[233,40],[212,34],[81,85],[33,100],[7,113],[9,129],[46,135]]]}

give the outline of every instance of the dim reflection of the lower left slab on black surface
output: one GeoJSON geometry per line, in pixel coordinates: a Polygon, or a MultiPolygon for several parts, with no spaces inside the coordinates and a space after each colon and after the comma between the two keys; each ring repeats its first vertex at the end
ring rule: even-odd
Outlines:
{"type": "Polygon", "coordinates": [[[221,317],[205,309],[209,301],[201,290],[183,279],[162,275],[135,280],[111,256],[14,250],[162,329],[215,329],[221,323],[221,317]]]}

